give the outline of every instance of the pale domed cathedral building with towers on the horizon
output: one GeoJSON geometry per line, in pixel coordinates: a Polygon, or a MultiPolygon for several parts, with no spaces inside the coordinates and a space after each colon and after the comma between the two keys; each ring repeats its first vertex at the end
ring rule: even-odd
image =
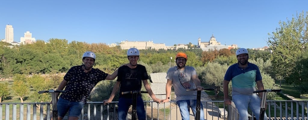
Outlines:
{"type": "Polygon", "coordinates": [[[232,49],[232,48],[238,48],[237,45],[221,45],[220,42],[216,41],[216,38],[213,36],[210,38],[209,42],[201,42],[201,38],[198,39],[198,48],[201,48],[203,51],[209,51],[209,50],[220,50],[223,48],[226,49],[232,49]]]}

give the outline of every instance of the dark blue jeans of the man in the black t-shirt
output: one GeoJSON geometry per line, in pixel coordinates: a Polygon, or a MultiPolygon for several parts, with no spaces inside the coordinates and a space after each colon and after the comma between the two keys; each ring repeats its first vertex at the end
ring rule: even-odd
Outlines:
{"type": "MultiPolygon", "coordinates": [[[[126,120],[128,108],[132,105],[132,99],[129,98],[120,98],[118,103],[118,117],[119,120],[126,120]]],[[[137,116],[138,120],[145,120],[145,110],[144,103],[141,96],[137,97],[137,116]]]]}

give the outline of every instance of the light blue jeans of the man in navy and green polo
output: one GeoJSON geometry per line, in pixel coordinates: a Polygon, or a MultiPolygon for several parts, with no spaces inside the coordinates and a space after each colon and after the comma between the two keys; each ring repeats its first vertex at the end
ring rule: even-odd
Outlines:
{"type": "MultiPolygon", "coordinates": [[[[259,119],[261,99],[257,94],[233,95],[232,99],[238,113],[240,114],[240,120],[248,120],[248,107],[256,116],[257,120],[259,119]]],[[[267,119],[266,113],[264,114],[264,119],[267,119]]]]}

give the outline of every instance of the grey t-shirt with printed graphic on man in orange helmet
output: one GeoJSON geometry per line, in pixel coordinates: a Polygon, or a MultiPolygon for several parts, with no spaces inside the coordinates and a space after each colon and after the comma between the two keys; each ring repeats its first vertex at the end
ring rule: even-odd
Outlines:
{"type": "Polygon", "coordinates": [[[183,71],[177,66],[169,68],[166,79],[172,81],[176,101],[197,99],[197,91],[186,91],[186,89],[196,89],[192,80],[193,75],[197,75],[197,72],[191,66],[185,66],[183,71]]]}

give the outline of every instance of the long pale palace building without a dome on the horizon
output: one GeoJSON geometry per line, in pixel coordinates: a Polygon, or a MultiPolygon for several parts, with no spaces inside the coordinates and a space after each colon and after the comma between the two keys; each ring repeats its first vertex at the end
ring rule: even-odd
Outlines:
{"type": "Polygon", "coordinates": [[[176,46],[166,46],[164,43],[156,44],[156,43],[153,43],[153,41],[127,41],[127,40],[121,41],[120,47],[121,49],[137,48],[140,50],[142,49],[168,50],[168,49],[178,49],[178,48],[187,49],[188,48],[187,45],[183,45],[183,44],[179,44],[176,46]]]}

